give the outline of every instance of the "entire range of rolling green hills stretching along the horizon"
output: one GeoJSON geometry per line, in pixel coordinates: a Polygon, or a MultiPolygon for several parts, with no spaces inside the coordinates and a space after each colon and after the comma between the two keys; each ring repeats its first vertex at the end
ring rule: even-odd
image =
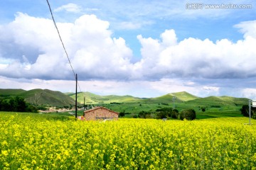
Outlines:
{"type": "MultiPolygon", "coordinates": [[[[60,91],[50,91],[43,89],[33,89],[25,91],[22,89],[0,89],[0,98],[11,98],[21,96],[28,103],[37,103],[44,106],[70,106],[75,105],[75,94],[63,94],[60,91]]],[[[206,113],[211,117],[216,117],[218,113],[227,113],[230,115],[240,114],[242,105],[248,103],[248,98],[234,98],[230,96],[208,96],[200,98],[188,94],[186,91],[166,94],[156,98],[137,98],[134,96],[108,95],[100,96],[90,92],[78,93],[78,102],[85,104],[94,104],[96,106],[105,106],[113,111],[137,114],[140,111],[156,111],[157,108],[172,107],[181,111],[186,108],[195,109],[201,117],[206,117],[206,113]],[[174,96],[175,101],[173,101],[174,96]],[[205,108],[205,112],[202,111],[205,108]],[[232,113],[230,113],[232,112],[232,113]]],[[[209,117],[209,116],[208,116],[209,117]]]]}

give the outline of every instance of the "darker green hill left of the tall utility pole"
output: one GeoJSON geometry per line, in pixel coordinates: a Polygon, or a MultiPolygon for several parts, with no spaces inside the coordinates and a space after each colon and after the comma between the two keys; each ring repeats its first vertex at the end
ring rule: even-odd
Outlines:
{"type": "Polygon", "coordinates": [[[60,91],[50,91],[48,89],[33,89],[25,91],[22,89],[0,89],[0,97],[11,98],[21,96],[28,103],[45,106],[70,106],[75,105],[75,100],[60,91]]]}

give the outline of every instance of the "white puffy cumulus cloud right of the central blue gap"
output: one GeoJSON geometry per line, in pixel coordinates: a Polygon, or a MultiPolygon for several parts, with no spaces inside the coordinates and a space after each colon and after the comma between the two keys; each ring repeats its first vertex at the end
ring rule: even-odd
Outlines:
{"type": "MultiPolygon", "coordinates": [[[[256,26],[256,22],[253,22],[256,26]]],[[[252,25],[252,22],[250,22],[252,25]]],[[[242,28],[247,28],[242,23],[242,28]]],[[[228,39],[213,42],[209,39],[187,38],[177,42],[174,30],[166,30],[160,40],[143,38],[142,60],[137,71],[151,79],[160,77],[203,77],[206,79],[238,79],[255,77],[256,38],[246,29],[244,40],[228,39]],[[146,72],[146,73],[145,73],[146,72]],[[145,74],[144,74],[145,73],[145,74]]]]}

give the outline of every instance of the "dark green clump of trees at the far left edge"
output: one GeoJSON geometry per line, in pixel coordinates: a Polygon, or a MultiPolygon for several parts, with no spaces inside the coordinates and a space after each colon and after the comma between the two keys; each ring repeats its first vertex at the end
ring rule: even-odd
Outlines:
{"type": "Polygon", "coordinates": [[[36,106],[26,103],[25,99],[20,96],[0,98],[0,111],[37,112],[37,110],[36,106]]]}

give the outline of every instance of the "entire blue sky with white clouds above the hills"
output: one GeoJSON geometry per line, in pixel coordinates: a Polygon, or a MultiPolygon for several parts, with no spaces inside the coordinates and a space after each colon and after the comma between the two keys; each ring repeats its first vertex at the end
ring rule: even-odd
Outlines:
{"type": "Polygon", "coordinates": [[[0,89],[256,98],[255,0],[48,1],[69,58],[46,0],[1,0],[0,89]]]}

